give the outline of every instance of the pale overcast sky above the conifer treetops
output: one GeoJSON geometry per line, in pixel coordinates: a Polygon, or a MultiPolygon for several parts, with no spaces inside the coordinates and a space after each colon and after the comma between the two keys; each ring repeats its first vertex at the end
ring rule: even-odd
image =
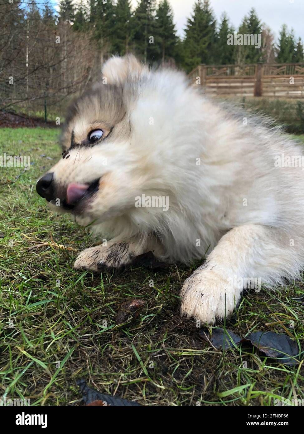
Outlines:
{"type": "MultiPolygon", "coordinates": [[[[183,36],[187,18],[193,11],[194,0],[169,0],[174,12],[174,21],[179,36],[183,36]]],[[[132,0],[134,6],[137,0],[132,0]]],[[[211,0],[216,20],[222,12],[227,12],[233,26],[237,29],[242,18],[252,7],[258,17],[265,22],[278,37],[281,25],[286,23],[288,29],[294,28],[296,38],[304,39],[304,0],[211,0]]]]}

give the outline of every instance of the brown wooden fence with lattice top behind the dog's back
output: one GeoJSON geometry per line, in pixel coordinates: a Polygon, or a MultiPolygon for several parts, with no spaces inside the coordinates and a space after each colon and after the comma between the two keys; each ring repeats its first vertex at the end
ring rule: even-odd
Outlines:
{"type": "Polygon", "coordinates": [[[304,98],[304,63],[199,65],[189,77],[214,96],[304,98]]]}

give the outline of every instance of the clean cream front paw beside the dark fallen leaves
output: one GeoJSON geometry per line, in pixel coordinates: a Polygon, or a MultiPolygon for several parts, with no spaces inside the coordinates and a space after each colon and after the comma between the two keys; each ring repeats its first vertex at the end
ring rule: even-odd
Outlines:
{"type": "Polygon", "coordinates": [[[183,315],[212,324],[216,318],[223,319],[232,314],[239,302],[240,291],[234,288],[233,279],[198,268],[183,284],[181,296],[183,315]]]}

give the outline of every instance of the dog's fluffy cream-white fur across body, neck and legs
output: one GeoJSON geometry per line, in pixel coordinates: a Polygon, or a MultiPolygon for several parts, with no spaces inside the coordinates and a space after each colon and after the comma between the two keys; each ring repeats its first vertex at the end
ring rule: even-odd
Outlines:
{"type": "MultiPolygon", "coordinates": [[[[304,172],[275,167],[275,161],[281,154],[301,155],[301,147],[254,117],[244,125],[244,113],[206,99],[181,72],[149,71],[133,57],[114,57],[103,75],[129,95],[121,122],[130,122],[130,135],[71,150],[68,161],[51,169],[65,185],[103,175],[98,194],[76,220],[94,220],[93,229],[111,241],[84,250],[75,268],[121,266],[149,250],[160,260],[190,263],[208,250],[181,292],[183,314],[208,323],[237,306],[242,287],[236,279],[275,286],[298,277],[304,172]],[[136,208],[142,194],[169,197],[169,210],[136,208]],[[129,250],[118,260],[123,243],[129,250]]],[[[94,120],[97,111],[93,105],[94,120]]],[[[79,109],[72,128],[87,134],[89,117],[79,109]]]]}

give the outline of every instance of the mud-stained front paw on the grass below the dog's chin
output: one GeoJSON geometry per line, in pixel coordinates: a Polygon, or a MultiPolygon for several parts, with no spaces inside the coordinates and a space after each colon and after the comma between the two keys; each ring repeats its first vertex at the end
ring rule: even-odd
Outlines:
{"type": "Polygon", "coordinates": [[[89,247],[79,253],[74,268],[101,273],[111,269],[120,269],[131,263],[132,258],[133,255],[127,243],[112,244],[109,247],[89,247]]]}

